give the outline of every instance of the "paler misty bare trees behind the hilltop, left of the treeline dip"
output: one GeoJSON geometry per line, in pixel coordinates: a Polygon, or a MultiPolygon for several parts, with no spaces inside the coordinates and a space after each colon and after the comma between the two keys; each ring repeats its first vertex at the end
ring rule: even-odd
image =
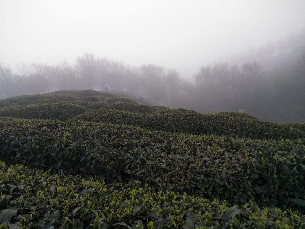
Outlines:
{"type": "MultiPolygon", "coordinates": [[[[95,58],[85,53],[76,63],[63,62],[57,66],[33,63],[13,73],[10,67],[0,65],[0,99],[24,94],[40,94],[58,90],[92,89],[102,91],[129,91],[166,106],[179,106],[177,93],[185,98],[193,88],[176,69],[165,69],[155,64],[130,67],[123,62],[95,58]]],[[[185,99],[182,98],[182,99],[185,99]]]]}

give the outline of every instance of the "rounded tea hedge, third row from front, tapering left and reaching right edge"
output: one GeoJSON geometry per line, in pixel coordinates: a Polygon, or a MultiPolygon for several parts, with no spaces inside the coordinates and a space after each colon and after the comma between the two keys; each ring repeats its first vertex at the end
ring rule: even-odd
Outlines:
{"type": "MultiPolygon", "coordinates": [[[[115,105],[111,104],[109,107],[115,107],[115,105]]],[[[130,110],[132,110],[132,106],[130,107],[130,110]]],[[[150,109],[153,109],[153,107],[150,109]]],[[[264,122],[251,115],[238,112],[201,114],[187,109],[162,109],[151,114],[141,114],[101,109],[85,112],[75,117],[74,120],[134,125],[145,129],[168,132],[215,134],[253,139],[305,138],[304,123],[278,124],[264,122]]]]}

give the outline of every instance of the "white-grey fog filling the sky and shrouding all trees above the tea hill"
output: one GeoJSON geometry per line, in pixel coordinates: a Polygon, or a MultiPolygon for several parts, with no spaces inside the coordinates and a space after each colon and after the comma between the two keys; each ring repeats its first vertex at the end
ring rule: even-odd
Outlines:
{"type": "Polygon", "coordinates": [[[0,1],[0,99],[107,86],[305,122],[304,12],[304,1],[0,1]]]}

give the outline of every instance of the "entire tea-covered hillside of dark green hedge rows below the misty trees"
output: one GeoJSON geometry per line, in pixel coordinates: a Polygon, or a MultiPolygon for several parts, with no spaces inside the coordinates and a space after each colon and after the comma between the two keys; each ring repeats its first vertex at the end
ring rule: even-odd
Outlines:
{"type": "Polygon", "coordinates": [[[305,228],[304,136],[118,93],[0,100],[0,228],[305,228]]]}

